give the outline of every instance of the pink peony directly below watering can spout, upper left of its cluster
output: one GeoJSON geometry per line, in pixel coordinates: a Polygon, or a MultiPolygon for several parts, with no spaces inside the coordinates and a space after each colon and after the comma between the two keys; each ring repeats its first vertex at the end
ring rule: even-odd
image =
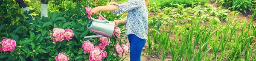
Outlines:
{"type": "Polygon", "coordinates": [[[82,44],[82,47],[84,49],[84,53],[86,53],[86,52],[90,52],[91,50],[93,50],[94,45],[90,41],[84,41],[84,44],[82,44]]]}

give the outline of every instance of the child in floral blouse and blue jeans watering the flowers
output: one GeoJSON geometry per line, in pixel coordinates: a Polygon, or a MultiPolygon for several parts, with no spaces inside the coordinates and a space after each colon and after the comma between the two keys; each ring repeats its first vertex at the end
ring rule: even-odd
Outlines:
{"type": "Polygon", "coordinates": [[[115,27],[118,24],[125,25],[126,36],[130,43],[130,61],[140,61],[140,55],[145,45],[148,34],[148,0],[128,0],[122,4],[99,6],[91,10],[90,15],[99,14],[99,11],[111,11],[120,14],[128,11],[124,20],[114,20],[115,27]]]}

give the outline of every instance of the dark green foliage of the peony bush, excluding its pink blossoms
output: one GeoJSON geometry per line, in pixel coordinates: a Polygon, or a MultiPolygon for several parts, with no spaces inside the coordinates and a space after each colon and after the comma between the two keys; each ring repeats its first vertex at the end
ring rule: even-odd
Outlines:
{"type": "MultiPolygon", "coordinates": [[[[99,38],[83,39],[84,36],[96,34],[87,30],[86,27],[90,19],[87,18],[85,9],[81,7],[82,5],[93,5],[87,3],[90,1],[87,0],[86,2],[72,5],[70,6],[73,7],[72,9],[67,8],[63,12],[49,13],[49,17],[40,18],[36,16],[35,19],[28,17],[28,14],[35,12],[35,10],[25,11],[24,14],[9,15],[6,10],[3,10],[1,13],[6,14],[4,14],[5,17],[0,17],[0,40],[2,42],[3,39],[13,39],[16,42],[16,46],[12,51],[0,51],[0,59],[4,61],[55,61],[55,57],[59,53],[65,53],[70,61],[88,61],[90,53],[84,53],[83,42],[88,40],[94,46],[101,43],[99,38]],[[53,42],[51,38],[53,28],[70,29],[73,31],[74,36],[69,41],[53,42]]],[[[7,4],[6,2],[1,3],[7,4]]],[[[117,15],[110,12],[102,12],[102,15],[110,21],[121,19],[120,17],[122,17],[122,14],[117,15]]],[[[96,18],[96,16],[94,17],[96,18]]],[[[121,31],[124,30],[122,26],[119,26],[121,31]]],[[[121,34],[124,34],[124,32],[121,34]]],[[[119,54],[114,49],[114,45],[117,43],[124,44],[125,42],[112,37],[110,44],[105,47],[107,57],[102,58],[102,60],[121,61],[122,58],[119,57],[119,54]]],[[[3,45],[0,45],[0,47],[2,48],[3,45]]]]}

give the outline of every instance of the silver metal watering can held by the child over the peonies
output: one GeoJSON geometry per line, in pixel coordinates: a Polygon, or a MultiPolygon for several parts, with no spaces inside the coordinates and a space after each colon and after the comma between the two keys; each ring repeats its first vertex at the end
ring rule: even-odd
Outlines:
{"type": "Polygon", "coordinates": [[[84,36],[84,39],[90,38],[99,38],[99,37],[109,37],[113,35],[115,22],[108,21],[105,19],[101,14],[99,14],[104,20],[94,19],[91,17],[90,23],[87,25],[87,29],[90,32],[97,33],[96,35],[92,36],[84,36]]]}

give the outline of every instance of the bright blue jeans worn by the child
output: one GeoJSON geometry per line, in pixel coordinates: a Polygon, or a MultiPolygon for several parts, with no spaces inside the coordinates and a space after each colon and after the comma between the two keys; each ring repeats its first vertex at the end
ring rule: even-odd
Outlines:
{"type": "Polygon", "coordinates": [[[146,40],[140,39],[134,34],[129,34],[128,40],[130,43],[130,61],[140,61],[140,55],[146,40]]]}

